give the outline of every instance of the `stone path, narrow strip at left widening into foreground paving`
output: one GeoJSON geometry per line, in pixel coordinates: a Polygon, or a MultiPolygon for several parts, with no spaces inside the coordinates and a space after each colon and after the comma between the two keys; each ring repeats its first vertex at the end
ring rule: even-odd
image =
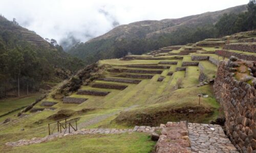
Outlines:
{"type": "Polygon", "coordinates": [[[144,132],[148,134],[161,133],[156,144],[156,152],[238,152],[237,148],[224,134],[220,125],[180,122],[167,122],[160,126],[135,126],[134,129],[81,129],[71,133],[55,133],[44,138],[32,138],[7,142],[8,146],[22,146],[47,142],[55,138],[72,135],[88,134],[122,134],[144,132]]]}

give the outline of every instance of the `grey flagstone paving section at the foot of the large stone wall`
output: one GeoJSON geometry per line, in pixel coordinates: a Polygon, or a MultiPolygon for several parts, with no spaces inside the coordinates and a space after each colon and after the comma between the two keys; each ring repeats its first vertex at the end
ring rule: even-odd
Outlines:
{"type": "Polygon", "coordinates": [[[238,152],[220,125],[188,123],[192,152],[238,152]]]}

